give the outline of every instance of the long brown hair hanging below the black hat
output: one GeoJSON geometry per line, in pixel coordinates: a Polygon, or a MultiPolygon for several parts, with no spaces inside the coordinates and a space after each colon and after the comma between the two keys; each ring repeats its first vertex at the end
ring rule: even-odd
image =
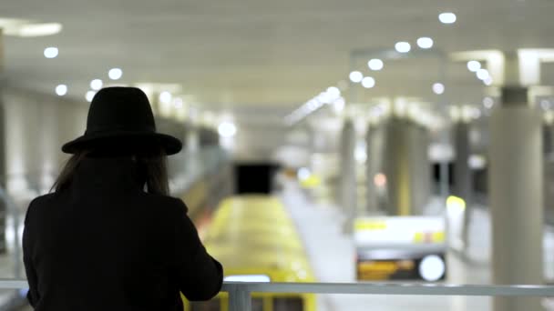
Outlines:
{"type": "MultiPolygon", "coordinates": [[[[91,151],[83,150],[70,156],[57,176],[51,191],[59,192],[67,189],[73,182],[77,167],[91,154],[91,151]]],[[[169,196],[168,166],[165,153],[161,151],[154,154],[139,153],[130,157],[138,164],[140,175],[145,178],[147,191],[151,194],[169,196]]]]}

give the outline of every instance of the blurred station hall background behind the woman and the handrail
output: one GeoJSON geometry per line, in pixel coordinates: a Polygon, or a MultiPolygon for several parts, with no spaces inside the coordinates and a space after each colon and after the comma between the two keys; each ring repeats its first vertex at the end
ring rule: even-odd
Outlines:
{"type": "MultiPolygon", "coordinates": [[[[128,85],[183,141],[171,193],[228,280],[549,284],[552,12],[549,0],[4,0],[0,277],[25,278],[26,207],[50,192],[97,90],[128,85]]],[[[1,309],[28,308],[25,293],[1,292],[1,309]]],[[[460,296],[252,304],[554,310],[460,296]]]]}

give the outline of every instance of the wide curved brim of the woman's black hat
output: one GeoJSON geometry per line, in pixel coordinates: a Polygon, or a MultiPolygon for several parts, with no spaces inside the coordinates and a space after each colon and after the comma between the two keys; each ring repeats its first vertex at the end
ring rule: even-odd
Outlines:
{"type": "Polygon", "coordinates": [[[64,144],[62,151],[67,154],[76,154],[82,150],[94,150],[110,146],[139,147],[141,150],[161,148],[167,156],[175,155],[182,149],[179,139],[166,134],[155,132],[110,131],[108,133],[93,133],[82,135],[64,144]]]}

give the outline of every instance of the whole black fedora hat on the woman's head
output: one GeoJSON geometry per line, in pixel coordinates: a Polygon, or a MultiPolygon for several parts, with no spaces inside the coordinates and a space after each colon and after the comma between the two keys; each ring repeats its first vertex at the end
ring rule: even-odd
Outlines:
{"type": "Polygon", "coordinates": [[[62,151],[75,154],[113,146],[147,151],[161,148],[166,155],[177,154],[182,148],[179,139],[156,132],[147,95],[139,88],[120,86],[97,92],[88,108],[85,135],[63,145],[62,151]]]}

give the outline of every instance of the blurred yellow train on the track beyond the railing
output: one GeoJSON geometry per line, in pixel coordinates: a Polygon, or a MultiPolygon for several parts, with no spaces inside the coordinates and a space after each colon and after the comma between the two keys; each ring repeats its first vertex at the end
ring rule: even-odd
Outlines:
{"type": "MultiPolygon", "coordinates": [[[[232,196],[221,202],[204,246],[223,265],[225,280],[313,282],[303,244],[282,203],[272,196],[232,196]]],[[[227,311],[227,293],[188,302],[188,311],[227,311]]],[[[313,294],[252,293],[253,311],[314,311],[313,294]]]]}

